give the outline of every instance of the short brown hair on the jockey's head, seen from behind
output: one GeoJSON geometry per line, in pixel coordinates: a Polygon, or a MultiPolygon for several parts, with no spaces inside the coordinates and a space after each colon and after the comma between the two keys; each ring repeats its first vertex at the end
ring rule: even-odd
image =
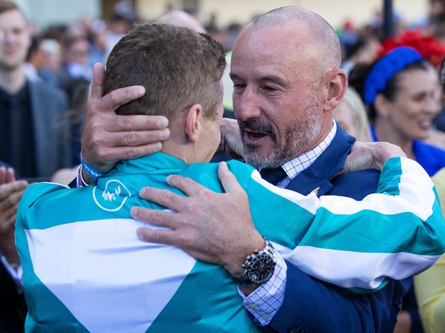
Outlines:
{"type": "Polygon", "coordinates": [[[225,64],[223,47],[206,34],[173,25],[139,25],[110,53],[103,94],[143,85],[146,94],[116,113],[156,114],[171,120],[199,103],[205,116],[216,117],[225,64]]]}

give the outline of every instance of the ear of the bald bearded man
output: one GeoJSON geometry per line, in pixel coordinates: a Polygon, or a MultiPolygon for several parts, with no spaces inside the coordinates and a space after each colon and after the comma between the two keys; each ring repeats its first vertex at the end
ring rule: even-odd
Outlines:
{"type": "Polygon", "coordinates": [[[323,103],[323,109],[332,111],[342,103],[342,98],[348,88],[348,78],[343,70],[329,70],[325,74],[325,82],[327,82],[327,95],[323,103]]]}

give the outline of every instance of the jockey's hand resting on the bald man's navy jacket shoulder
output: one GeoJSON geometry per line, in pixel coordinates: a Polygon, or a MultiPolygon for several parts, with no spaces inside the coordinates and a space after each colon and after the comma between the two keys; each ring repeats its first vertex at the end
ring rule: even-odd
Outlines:
{"type": "Polygon", "coordinates": [[[407,157],[395,144],[388,142],[355,142],[351,154],[346,157],[344,169],[338,174],[364,169],[382,170],[383,164],[392,157],[407,157]]]}

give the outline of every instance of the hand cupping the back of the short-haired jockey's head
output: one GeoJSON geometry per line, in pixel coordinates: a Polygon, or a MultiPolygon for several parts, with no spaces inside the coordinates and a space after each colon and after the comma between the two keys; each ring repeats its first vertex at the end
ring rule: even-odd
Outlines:
{"type": "Polygon", "coordinates": [[[133,85],[102,96],[104,77],[103,66],[95,64],[81,142],[84,159],[100,172],[109,171],[120,160],[161,150],[161,141],[170,136],[168,120],[163,116],[117,115],[114,111],[120,105],[144,95],[144,87],[133,85]]]}

